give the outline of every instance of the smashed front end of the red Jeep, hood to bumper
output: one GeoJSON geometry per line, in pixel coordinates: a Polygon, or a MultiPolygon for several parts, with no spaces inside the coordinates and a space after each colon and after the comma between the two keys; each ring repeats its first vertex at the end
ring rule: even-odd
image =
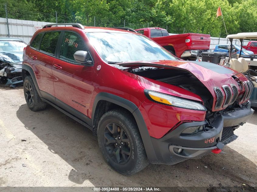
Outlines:
{"type": "Polygon", "coordinates": [[[144,83],[148,91],[165,95],[161,96],[164,98],[161,102],[147,96],[140,106],[148,113],[146,124],[156,157],[160,157],[151,163],[175,164],[210,152],[219,153],[224,145],[237,139],[234,130],[254,112],[249,102],[253,90],[251,82],[231,69],[206,62],[185,61],[116,65],[151,82],[144,83]],[[206,110],[188,106],[179,108],[172,105],[169,96],[199,103],[206,110]],[[161,113],[162,120],[151,118],[156,116],[155,113],[161,113]]]}

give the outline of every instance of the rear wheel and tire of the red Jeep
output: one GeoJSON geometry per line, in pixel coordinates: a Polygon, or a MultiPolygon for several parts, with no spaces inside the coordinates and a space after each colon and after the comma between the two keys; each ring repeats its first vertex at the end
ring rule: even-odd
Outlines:
{"type": "Polygon", "coordinates": [[[30,110],[40,111],[46,108],[47,103],[43,102],[37,93],[31,76],[26,76],[23,82],[23,91],[26,103],[30,110]]]}

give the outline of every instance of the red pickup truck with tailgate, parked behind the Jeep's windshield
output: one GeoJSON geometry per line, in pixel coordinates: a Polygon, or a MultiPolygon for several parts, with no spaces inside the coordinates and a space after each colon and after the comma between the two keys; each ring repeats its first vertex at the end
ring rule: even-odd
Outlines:
{"type": "Polygon", "coordinates": [[[169,35],[166,29],[159,27],[136,29],[159,45],[167,49],[173,55],[184,60],[196,60],[201,52],[210,49],[210,35],[198,33],[184,33],[169,35]]]}

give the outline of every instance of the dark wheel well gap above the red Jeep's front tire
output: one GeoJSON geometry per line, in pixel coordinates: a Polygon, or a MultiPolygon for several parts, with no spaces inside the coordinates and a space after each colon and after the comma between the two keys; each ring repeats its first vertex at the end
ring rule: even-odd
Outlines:
{"type": "MultiPolygon", "coordinates": [[[[109,102],[106,100],[100,100],[96,105],[96,110],[95,110],[95,114],[94,114],[93,127],[92,127],[93,135],[95,135],[95,136],[97,135],[97,128],[98,128],[99,120],[101,119],[102,115],[112,109],[123,109],[123,110],[126,110],[129,113],[131,113],[126,108],[119,106],[115,103],[112,103],[112,102],[109,102]]],[[[134,118],[134,116],[133,116],[133,118],[134,118]]]]}

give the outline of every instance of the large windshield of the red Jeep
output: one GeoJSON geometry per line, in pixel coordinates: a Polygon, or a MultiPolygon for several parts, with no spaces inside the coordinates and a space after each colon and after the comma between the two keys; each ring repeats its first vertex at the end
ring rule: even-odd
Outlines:
{"type": "Polygon", "coordinates": [[[106,62],[174,60],[160,45],[142,35],[88,32],[90,43],[106,62]]]}

